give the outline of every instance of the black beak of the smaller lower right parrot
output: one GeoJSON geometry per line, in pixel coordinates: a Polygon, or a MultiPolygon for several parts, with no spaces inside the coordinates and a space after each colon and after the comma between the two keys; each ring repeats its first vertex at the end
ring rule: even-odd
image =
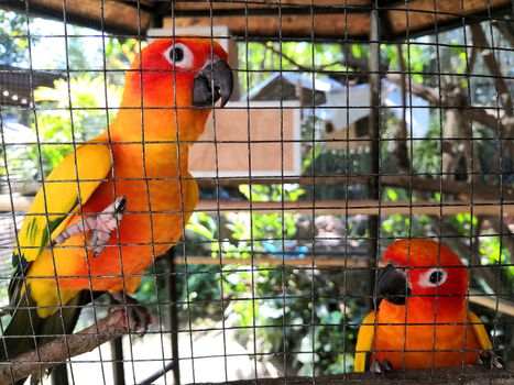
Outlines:
{"type": "Polygon", "coordinates": [[[387,264],[380,272],[376,292],[379,298],[394,305],[405,305],[406,296],[411,294],[405,272],[400,267],[387,264]]]}

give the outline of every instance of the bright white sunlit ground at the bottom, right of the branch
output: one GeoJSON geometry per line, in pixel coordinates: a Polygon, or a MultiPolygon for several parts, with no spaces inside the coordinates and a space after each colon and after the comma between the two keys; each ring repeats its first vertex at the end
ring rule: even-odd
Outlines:
{"type": "MultiPolygon", "coordinates": [[[[251,380],[255,378],[255,370],[259,378],[280,375],[280,370],[271,363],[254,363],[251,352],[236,340],[232,330],[226,330],[225,334],[222,330],[179,333],[178,350],[182,384],[251,380]]],[[[132,344],[125,337],[125,383],[141,383],[161,371],[169,362],[171,355],[169,334],[132,337],[132,344]],[[164,363],[163,356],[166,358],[164,363]]],[[[110,344],[106,343],[101,349],[74,358],[68,372],[73,378],[70,382],[76,385],[113,384],[110,344]]],[[[168,372],[166,377],[153,384],[173,384],[173,373],[168,372]]]]}

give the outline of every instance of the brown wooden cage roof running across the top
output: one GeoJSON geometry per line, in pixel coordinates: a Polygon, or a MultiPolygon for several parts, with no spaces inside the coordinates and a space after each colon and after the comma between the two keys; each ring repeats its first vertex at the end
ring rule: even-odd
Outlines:
{"type": "Polygon", "coordinates": [[[0,7],[111,33],[215,24],[250,38],[367,40],[372,10],[379,11],[382,38],[390,40],[512,15],[511,0],[4,0],[0,7]]]}

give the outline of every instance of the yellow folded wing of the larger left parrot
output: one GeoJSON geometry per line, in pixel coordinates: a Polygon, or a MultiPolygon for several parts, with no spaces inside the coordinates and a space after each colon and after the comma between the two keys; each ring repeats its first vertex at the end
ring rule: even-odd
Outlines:
{"type": "Polygon", "coordinates": [[[108,176],[112,166],[110,148],[102,138],[84,144],[68,154],[45,178],[23,226],[18,233],[18,243],[12,256],[13,278],[9,285],[11,305],[15,305],[22,279],[31,262],[48,246],[53,234],[57,234],[91,197],[108,176]]]}

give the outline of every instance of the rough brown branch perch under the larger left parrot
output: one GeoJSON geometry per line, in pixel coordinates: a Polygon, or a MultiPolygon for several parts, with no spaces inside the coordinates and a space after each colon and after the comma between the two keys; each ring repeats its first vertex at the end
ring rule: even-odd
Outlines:
{"type": "Polygon", "coordinates": [[[0,384],[11,384],[40,373],[127,333],[127,315],[123,310],[117,310],[76,334],[59,337],[37,351],[0,363],[0,384]]]}

